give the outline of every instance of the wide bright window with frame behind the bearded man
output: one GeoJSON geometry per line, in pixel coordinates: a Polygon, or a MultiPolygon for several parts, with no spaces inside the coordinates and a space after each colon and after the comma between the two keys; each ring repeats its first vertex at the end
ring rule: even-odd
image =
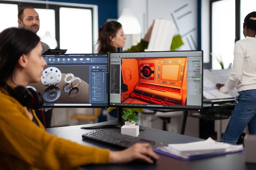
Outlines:
{"type": "MultiPolygon", "coordinates": [[[[98,33],[98,7],[91,4],[64,2],[40,2],[31,0],[0,1],[0,31],[18,26],[18,10],[34,7],[40,18],[38,36],[42,39],[46,32],[56,38],[56,49],[67,49],[66,53],[93,53],[98,33]],[[47,4],[45,4],[47,3],[47,4]]],[[[48,44],[51,49],[54,45],[48,44]]]]}

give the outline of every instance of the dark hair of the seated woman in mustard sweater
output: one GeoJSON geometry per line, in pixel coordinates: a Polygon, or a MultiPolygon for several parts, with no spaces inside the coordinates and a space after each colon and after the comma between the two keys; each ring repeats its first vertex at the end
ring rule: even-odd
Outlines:
{"type": "Polygon", "coordinates": [[[40,42],[32,31],[8,28],[0,33],[0,82],[13,75],[14,68],[22,54],[29,54],[40,42]]]}

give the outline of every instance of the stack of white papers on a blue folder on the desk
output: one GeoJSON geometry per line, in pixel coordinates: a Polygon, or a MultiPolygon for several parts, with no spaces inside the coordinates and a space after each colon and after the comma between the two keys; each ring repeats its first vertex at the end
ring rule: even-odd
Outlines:
{"type": "Polygon", "coordinates": [[[238,152],[243,150],[243,145],[230,145],[208,138],[205,141],[186,144],[168,144],[168,146],[157,147],[154,150],[177,159],[187,160],[238,152]]]}

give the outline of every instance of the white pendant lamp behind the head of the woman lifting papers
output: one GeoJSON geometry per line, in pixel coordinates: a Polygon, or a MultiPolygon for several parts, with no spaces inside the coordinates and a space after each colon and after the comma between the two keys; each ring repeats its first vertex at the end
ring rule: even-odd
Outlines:
{"type": "Polygon", "coordinates": [[[124,34],[141,33],[139,20],[135,17],[130,8],[123,9],[123,12],[118,18],[117,22],[120,22],[122,24],[124,34]]]}

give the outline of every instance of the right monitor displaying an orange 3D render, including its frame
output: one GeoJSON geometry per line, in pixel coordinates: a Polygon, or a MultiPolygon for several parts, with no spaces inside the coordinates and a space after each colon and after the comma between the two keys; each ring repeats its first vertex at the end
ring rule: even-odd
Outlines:
{"type": "Polygon", "coordinates": [[[110,107],[202,109],[203,51],[110,53],[110,107]]]}

